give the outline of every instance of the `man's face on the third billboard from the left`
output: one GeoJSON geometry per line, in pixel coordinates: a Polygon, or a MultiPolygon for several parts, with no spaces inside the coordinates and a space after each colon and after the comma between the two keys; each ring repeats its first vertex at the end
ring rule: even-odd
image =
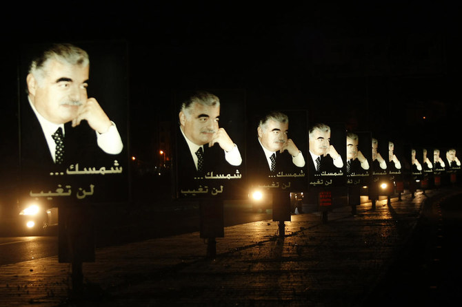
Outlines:
{"type": "Polygon", "coordinates": [[[276,120],[268,120],[266,128],[258,127],[259,140],[261,145],[269,151],[281,150],[284,143],[287,142],[289,132],[289,123],[279,123],[276,120]]]}

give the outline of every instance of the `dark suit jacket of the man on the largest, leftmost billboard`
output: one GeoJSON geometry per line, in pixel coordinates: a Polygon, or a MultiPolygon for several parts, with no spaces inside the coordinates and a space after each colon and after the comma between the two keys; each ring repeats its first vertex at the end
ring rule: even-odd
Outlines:
{"type": "MultiPolygon", "coordinates": [[[[64,162],[55,165],[46,138],[37,116],[35,116],[28,101],[21,106],[21,187],[23,193],[34,191],[54,191],[58,184],[72,184],[75,191],[81,176],[50,176],[50,173],[64,173],[70,165],[79,163],[79,169],[84,167],[110,167],[114,160],[120,160],[121,155],[106,154],[97,145],[97,136],[88,126],[86,120],[77,127],[71,123],[64,125],[64,162]]],[[[103,176],[92,177],[92,184],[103,176]]],[[[85,183],[85,186],[88,184],[85,183]]]]}

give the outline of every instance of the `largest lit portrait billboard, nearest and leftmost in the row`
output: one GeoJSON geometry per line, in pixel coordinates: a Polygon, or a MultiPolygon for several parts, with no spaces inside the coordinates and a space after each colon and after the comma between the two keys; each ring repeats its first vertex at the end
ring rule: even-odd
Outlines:
{"type": "Polygon", "coordinates": [[[128,200],[127,47],[23,47],[19,63],[21,201],[128,200]]]}

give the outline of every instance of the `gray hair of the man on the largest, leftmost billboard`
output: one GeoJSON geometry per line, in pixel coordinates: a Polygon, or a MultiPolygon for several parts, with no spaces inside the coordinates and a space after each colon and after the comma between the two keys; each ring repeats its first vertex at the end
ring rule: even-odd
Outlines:
{"type": "Polygon", "coordinates": [[[42,85],[43,78],[48,73],[48,64],[52,60],[70,65],[81,65],[83,67],[90,64],[88,53],[85,50],[70,43],[54,44],[41,52],[30,63],[29,73],[34,76],[39,86],[42,85]]]}

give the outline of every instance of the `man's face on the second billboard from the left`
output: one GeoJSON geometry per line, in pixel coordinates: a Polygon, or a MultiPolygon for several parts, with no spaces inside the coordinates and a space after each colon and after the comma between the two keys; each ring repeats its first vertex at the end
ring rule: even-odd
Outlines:
{"type": "Polygon", "coordinates": [[[189,109],[189,116],[183,112],[179,114],[181,129],[194,144],[208,144],[217,133],[219,116],[219,106],[193,103],[189,109]]]}

